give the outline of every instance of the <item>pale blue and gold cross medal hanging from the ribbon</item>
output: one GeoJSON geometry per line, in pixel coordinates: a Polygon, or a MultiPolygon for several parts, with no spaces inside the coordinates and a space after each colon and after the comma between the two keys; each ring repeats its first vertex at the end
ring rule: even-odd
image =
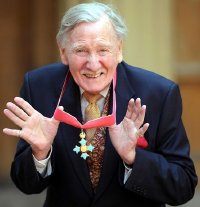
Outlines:
{"type": "Polygon", "coordinates": [[[91,144],[87,145],[87,141],[85,139],[85,132],[83,130],[81,130],[80,133],[80,138],[81,140],[79,141],[80,146],[75,146],[73,151],[76,152],[76,154],[78,154],[79,152],[81,153],[81,157],[86,160],[86,158],[89,156],[88,152],[92,152],[94,149],[94,146],[92,146],[91,144]]]}

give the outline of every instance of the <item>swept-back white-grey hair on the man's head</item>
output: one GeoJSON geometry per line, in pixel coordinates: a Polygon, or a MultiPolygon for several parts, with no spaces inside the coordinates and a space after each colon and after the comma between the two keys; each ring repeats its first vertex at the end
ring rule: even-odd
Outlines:
{"type": "Polygon", "coordinates": [[[111,22],[117,38],[123,40],[127,34],[127,27],[116,9],[103,3],[93,2],[78,4],[66,11],[56,36],[58,44],[64,47],[67,34],[78,24],[82,22],[97,22],[105,15],[111,22]]]}

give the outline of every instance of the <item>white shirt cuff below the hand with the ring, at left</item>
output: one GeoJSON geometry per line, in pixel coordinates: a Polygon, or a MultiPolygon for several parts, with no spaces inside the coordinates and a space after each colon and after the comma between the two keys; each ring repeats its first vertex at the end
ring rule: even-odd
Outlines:
{"type": "Polygon", "coordinates": [[[48,157],[46,159],[44,159],[44,160],[37,160],[36,157],[32,154],[36,170],[43,177],[47,177],[52,172],[52,167],[51,167],[51,162],[50,162],[51,154],[52,154],[52,146],[51,146],[51,149],[50,149],[48,157]]]}

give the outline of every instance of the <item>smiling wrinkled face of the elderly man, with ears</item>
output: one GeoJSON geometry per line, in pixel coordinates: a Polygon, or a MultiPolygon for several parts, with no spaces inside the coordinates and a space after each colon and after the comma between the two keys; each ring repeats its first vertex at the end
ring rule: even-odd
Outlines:
{"type": "Polygon", "coordinates": [[[69,65],[75,82],[90,93],[106,88],[122,61],[122,42],[117,39],[106,19],[95,23],[80,23],[69,34],[65,48],[60,48],[61,60],[69,65]]]}

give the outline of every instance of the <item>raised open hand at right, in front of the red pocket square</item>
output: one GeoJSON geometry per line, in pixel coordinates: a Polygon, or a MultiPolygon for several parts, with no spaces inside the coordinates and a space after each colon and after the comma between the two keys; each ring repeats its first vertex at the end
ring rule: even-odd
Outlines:
{"type": "Polygon", "coordinates": [[[108,129],[113,146],[127,164],[133,164],[137,139],[143,136],[149,127],[148,123],[143,125],[145,113],[146,106],[141,106],[140,98],[136,101],[131,99],[122,122],[108,129]]]}

